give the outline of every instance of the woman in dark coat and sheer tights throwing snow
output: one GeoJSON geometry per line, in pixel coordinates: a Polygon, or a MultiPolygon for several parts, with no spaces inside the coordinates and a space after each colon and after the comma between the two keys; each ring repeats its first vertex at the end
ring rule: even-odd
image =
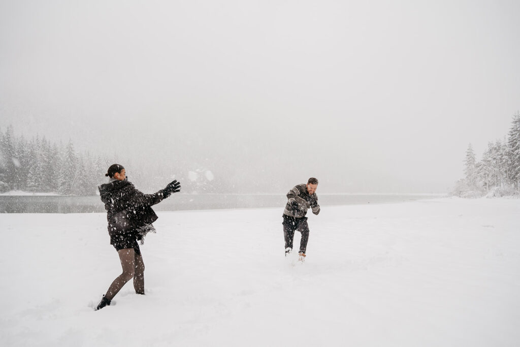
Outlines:
{"type": "Polygon", "coordinates": [[[145,293],[145,264],[137,241],[141,240],[142,245],[145,235],[155,232],[152,223],[158,217],[151,206],[180,191],[180,183],[173,181],[155,194],[143,194],[128,182],[125,168],[120,164],[111,165],[105,176],[110,177],[110,181],[99,186],[99,194],[107,210],[110,244],[119,253],[123,273],[112,282],[96,310],[110,305],[115,294],[132,277],[135,292],[145,293]]]}

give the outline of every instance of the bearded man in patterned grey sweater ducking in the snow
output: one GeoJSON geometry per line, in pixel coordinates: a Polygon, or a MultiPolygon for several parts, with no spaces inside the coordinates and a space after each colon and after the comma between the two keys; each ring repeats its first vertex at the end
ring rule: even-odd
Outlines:
{"type": "Polygon", "coordinates": [[[292,252],[294,232],[302,233],[300,241],[300,252],[298,260],[302,263],[305,260],[307,241],[309,240],[309,225],[307,224],[307,210],[310,208],[314,214],[320,213],[318,196],[316,195],[318,180],[310,177],[307,184],[299,184],[287,193],[287,204],[283,211],[283,237],[285,239],[285,256],[292,252]]]}

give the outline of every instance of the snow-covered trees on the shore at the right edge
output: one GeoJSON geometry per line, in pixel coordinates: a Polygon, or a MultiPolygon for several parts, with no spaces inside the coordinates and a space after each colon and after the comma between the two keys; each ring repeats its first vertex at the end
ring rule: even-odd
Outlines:
{"type": "Polygon", "coordinates": [[[461,197],[520,194],[520,112],[513,115],[509,133],[489,142],[480,161],[470,144],[464,160],[464,178],[457,181],[453,194],[461,197]]]}

